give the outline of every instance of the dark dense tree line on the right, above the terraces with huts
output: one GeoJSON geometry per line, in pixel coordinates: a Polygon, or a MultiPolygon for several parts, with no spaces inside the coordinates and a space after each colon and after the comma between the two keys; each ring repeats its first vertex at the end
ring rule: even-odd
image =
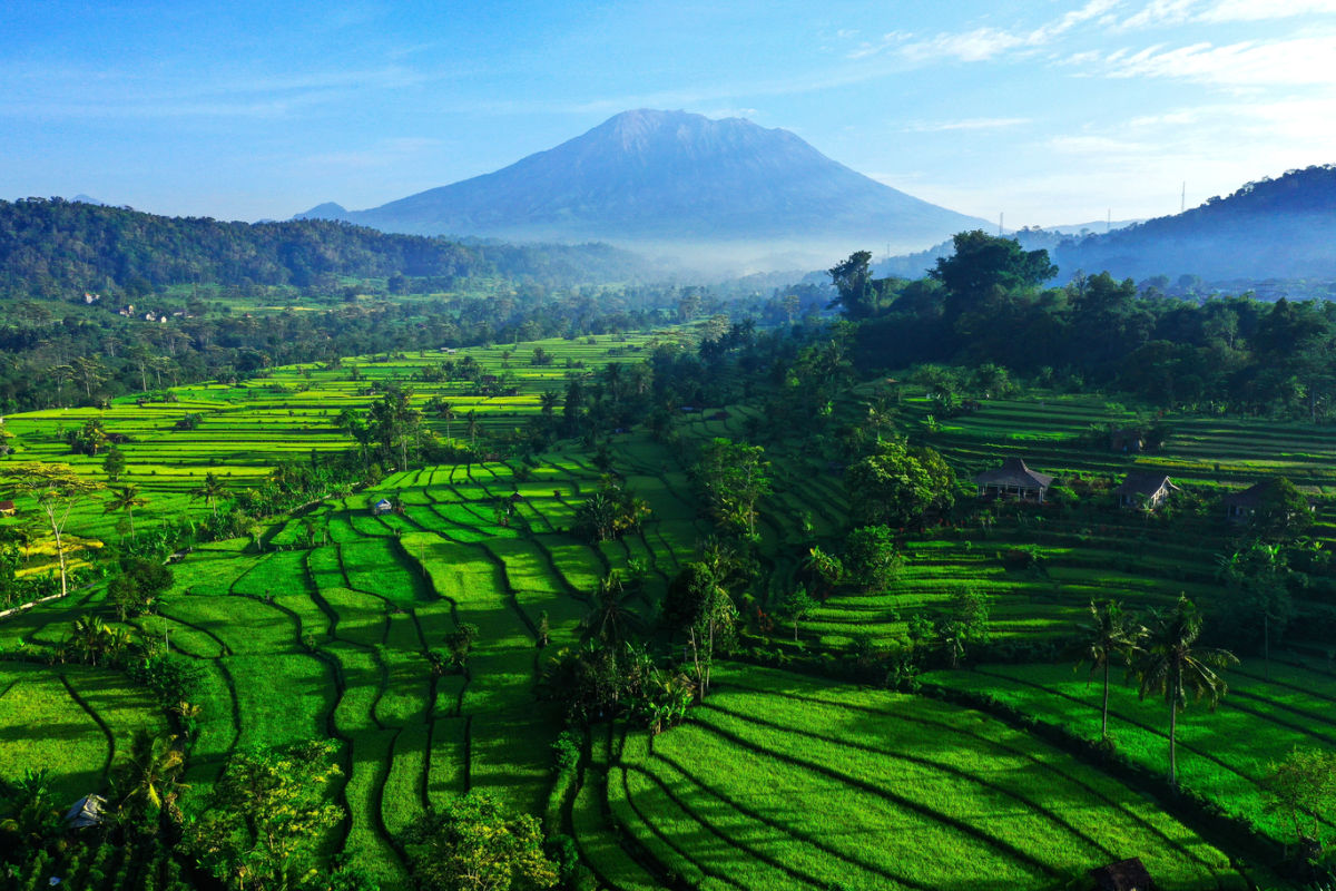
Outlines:
{"type": "Polygon", "coordinates": [[[916,281],[872,278],[867,251],[831,269],[835,306],[859,322],[860,370],[995,363],[1172,409],[1312,422],[1336,413],[1336,303],[1198,302],[1108,273],[1045,287],[1058,270],[1043,250],[982,231],[958,234],[954,246],[916,281]]]}

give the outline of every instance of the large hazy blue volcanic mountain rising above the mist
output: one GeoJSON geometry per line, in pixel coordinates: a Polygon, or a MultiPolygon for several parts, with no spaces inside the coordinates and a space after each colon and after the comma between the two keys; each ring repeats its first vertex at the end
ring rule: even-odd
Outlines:
{"type": "Polygon", "coordinates": [[[383,231],[517,240],[607,240],[696,254],[749,250],[792,267],[872,246],[926,247],[987,226],[740,118],[628,111],[502,170],[363,211],[326,216],[383,231]],[[834,252],[832,252],[834,251],[834,252]]]}

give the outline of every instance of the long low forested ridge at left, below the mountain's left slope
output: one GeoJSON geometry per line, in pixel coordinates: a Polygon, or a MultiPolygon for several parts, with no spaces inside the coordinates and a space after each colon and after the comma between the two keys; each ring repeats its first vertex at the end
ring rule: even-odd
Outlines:
{"type": "Polygon", "coordinates": [[[578,285],[648,273],[639,256],[608,244],[461,244],[318,219],[236,223],[60,198],[0,202],[0,295],[11,297],[138,295],[188,282],[307,287],[395,274],[578,285]]]}

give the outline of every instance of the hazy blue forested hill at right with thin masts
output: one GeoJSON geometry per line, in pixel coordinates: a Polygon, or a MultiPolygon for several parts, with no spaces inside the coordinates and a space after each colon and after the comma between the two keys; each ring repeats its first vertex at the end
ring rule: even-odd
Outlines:
{"type": "MultiPolygon", "coordinates": [[[[1025,244],[1025,239],[1022,238],[1025,244]]],[[[1336,166],[1248,183],[1228,198],[1050,248],[1070,274],[1208,282],[1336,278],[1336,166]]]]}

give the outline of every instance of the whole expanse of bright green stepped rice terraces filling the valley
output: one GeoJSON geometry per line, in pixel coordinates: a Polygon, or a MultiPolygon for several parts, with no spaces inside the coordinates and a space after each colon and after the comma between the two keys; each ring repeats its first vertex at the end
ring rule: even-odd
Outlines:
{"type": "MultiPolygon", "coordinates": [[[[1220,554],[1237,530],[1209,505],[1242,482],[1284,474],[1313,493],[1321,556],[1332,434],[1165,415],[1164,443],[1128,456],[1092,446],[1090,430],[1137,422],[1098,397],[1037,390],[938,422],[938,371],[851,378],[834,418],[860,429],[871,414],[878,435],[903,430],[938,450],[962,481],[957,505],[900,529],[894,565],[878,568],[884,553],[840,544],[851,498],[866,496],[846,486],[844,448],[767,433],[771,481],[755,494],[747,569],[720,534],[727,514],[697,508],[713,496],[685,457],[755,435],[766,405],[743,395],[741,371],[676,414],[627,426],[617,414],[616,399],[633,398],[619,387],[648,386],[647,354],[671,379],[672,357],[711,337],[720,333],[688,326],[361,357],[9,415],[11,466],[61,464],[107,482],[106,449],[69,454],[68,431],[96,422],[124,460],[110,493],[134,488],[142,505],[131,533],[130,510],[73,504],[63,532],[87,556],[72,561],[71,593],[0,622],[0,773],[43,772],[49,795],[75,801],[142,769],[158,735],[182,760],[171,807],[188,810],[239,752],[327,741],[339,814],[313,856],[386,887],[410,882],[410,827],[474,789],[565,839],[564,868],[581,887],[1069,887],[1130,856],[1165,888],[1281,880],[1264,858],[1283,864],[1293,839],[1268,806],[1268,777],[1296,747],[1336,739],[1336,667],[1319,636],[1277,636],[1265,665],[1228,671],[1218,709],[1182,713],[1182,797],[1157,788],[1162,707],[1116,677],[1116,743],[1101,749],[1097,685],[1073,673],[1065,645],[1101,598],[1146,610],[1218,598],[1220,554]],[[445,379],[442,363],[474,367],[476,379],[445,379]],[[558,433],[517,454],[521,431],[569,417],[545,394],[569,405],[572,385],[603,403],[599,448],[558,433]],[[415,457],[438,439],[456,452],[399,469],[389,442],[383,474],[341,482],[338,462],[361,462],[358,413],[374,417],[406,390],[422,406],[406,448],[415,457]],[[178,423],[190,415],[195,425],[178,423]],[[979,501],[963,488],[1013,454],[1066,481],[1067,493],[1049,494],[1063,504],[979,501]],[[1172,470],[1182,488],[1172,505],[1109,506],[1110,481],[1138,466],[1172,470]],[[315,473],[327,490],[294,496],[305,498],[295,508],[246,500],[315,473]],[[639,521],[587,534],[581,509],[612,492],[631,493],[639,521]],[[192,517],[184,529],[182,517],[192,517]],[[99,545],[135,554],[134,542],[183,534],[196,544],[171,557],[171,582],[151,602],[127,610],[98,581],[99,545]],[[831,582],[812,554],[842,552],[847,580],[831,582]],[[695,675],[696,632],[673,631],[675,617],[696,580],[736,585],[744,572],[752,581],[725,610],[733,641],[695,675]],[[807,604],[792,593],[802,589],[807,604]],[[982,594],[986,627],[943,618],[961,612],[962,592],[982,594]],[[620,622],[608,633],[624,637],[635,689],[600,689],[592,616],[620,622]],[[631,644],[632,629],[677,657],[631,644]],[[135,668],[135,652],[154,668],[135,668]]],[[[25,554],[19,578],[52,577],[40,536],[25,554]]],[[[1292,609],[1329,622],[1316,593],[1292,609]]],[[[139,846],[61,868],[86,887],[188,882],[162,839],[139,846]]],[[[19,880],[33,884],[49,863],[33,860],[19,880]]]]}

